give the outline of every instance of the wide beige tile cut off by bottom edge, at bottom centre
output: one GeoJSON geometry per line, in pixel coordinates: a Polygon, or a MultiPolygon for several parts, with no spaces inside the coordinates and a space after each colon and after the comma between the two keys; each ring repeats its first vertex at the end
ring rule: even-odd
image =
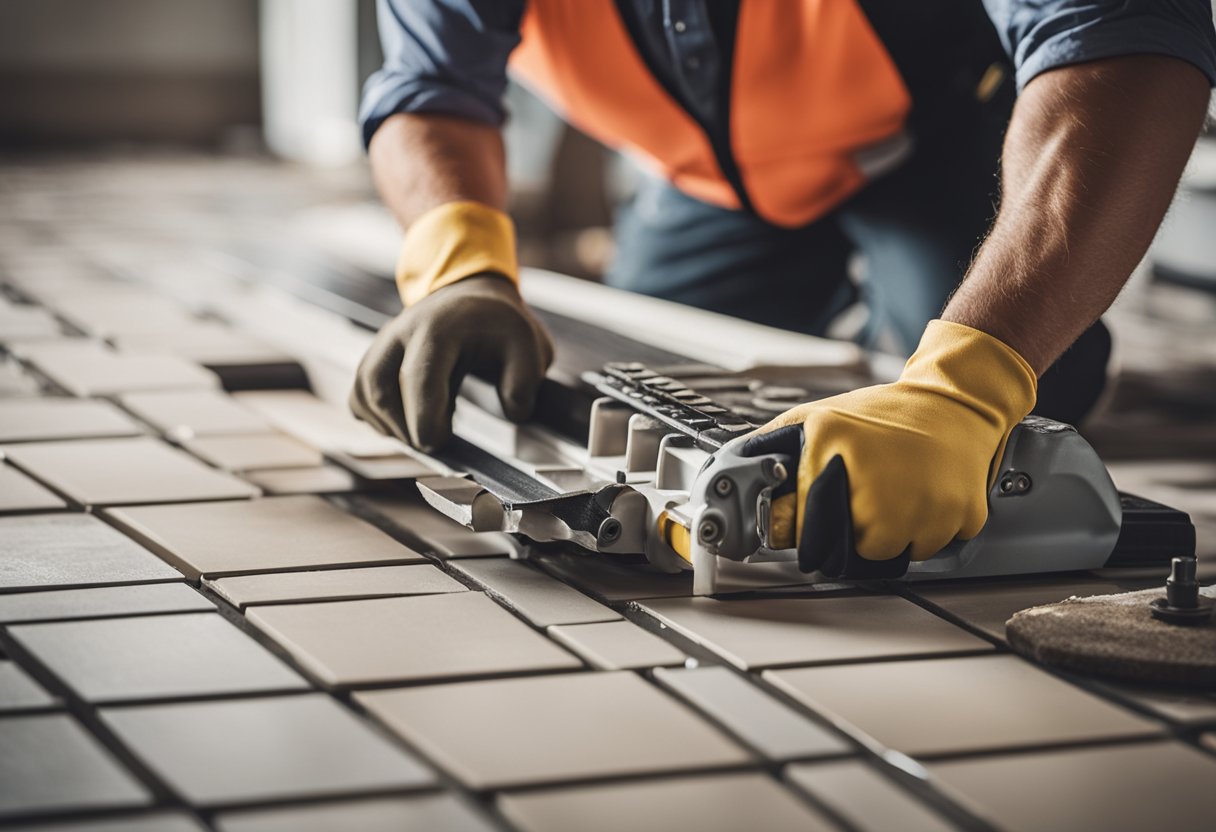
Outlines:
{"type": "Polygon", "coordinates": [[[837,828],[779,783],[758,774],[714,775],[503,794],[522,832],[818,832],[837,828]]]}

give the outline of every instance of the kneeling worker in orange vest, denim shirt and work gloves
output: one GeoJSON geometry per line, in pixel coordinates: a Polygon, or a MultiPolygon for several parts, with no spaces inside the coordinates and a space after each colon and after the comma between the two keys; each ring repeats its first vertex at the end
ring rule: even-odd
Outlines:
{"type": "Polygon", "coordinates": [[[798,540],[817,478],[843,467],[871,561],[978,534],[1036,400],[1073,418],[1092,403],[1098,317],[1216,83],[1206,0],[379,0],[378,19],[361,123],[407,229],[405,310],[364,358],[354,412],[435,449],[475,370],[529,416],[553,347],[505,213],[510,67],[649,172],[610,285],[822,333],[863,255],[869,332],[911,353],[902,375],[790,410],[756,450],[793,438],[801,455],[798,540]]]}

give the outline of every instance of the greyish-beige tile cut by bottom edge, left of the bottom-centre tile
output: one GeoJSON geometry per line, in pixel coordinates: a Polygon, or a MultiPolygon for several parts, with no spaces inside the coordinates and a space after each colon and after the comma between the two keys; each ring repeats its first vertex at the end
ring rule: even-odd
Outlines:
{"type": "Polygon", "coordinates": [[[451,794],[350,800],[219,816],[219,832],[491,832],[495,827],[451,794]]]}

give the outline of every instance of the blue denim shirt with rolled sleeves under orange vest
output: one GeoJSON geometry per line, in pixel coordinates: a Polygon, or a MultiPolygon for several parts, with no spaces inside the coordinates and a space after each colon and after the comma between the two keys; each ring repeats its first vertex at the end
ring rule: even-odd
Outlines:
{"type": "MultiPolygon", "coordinates": [[[[710,0],[627,2],[649,66],[694,117],[711,123],[717,117],[722,50],[710,0]]],[[[445,113],[501,124],[507,58],[519,43],[525,5],[377,0],[384,66],[364,88],[364,141],[394,113],[445,113]]],[[[1136,54],[1189,61],[1216,84],[1210,0],[984,0],[984,6],[1013,60],[1019,89],[1055,67],[1136,54]]]]}

